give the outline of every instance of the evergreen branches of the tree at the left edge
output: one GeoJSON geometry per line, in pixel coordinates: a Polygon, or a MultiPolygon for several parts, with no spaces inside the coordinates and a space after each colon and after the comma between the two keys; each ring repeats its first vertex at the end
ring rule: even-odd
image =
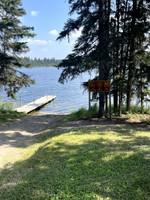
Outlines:
{"type": "Polygon", "coordinates": [[[8,96],[15,98],[15,93],[23,86],[34,81],[16,67],[28,67],[20,58],[21,53],[28,51],[24,37],[33,37],[32,27],[21,25],[25,10],[20,0],[0,0],[0,84],[8,96]]]}

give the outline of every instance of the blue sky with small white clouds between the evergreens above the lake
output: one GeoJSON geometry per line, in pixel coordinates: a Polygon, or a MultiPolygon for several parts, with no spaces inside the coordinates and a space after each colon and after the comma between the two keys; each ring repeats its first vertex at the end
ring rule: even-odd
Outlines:
{"type": "Polygon", "coordinates": [[[64,23],[70,17],[67,0],[22,0],[22,6],[26,11],[21,19],[23,25],[33,26],[34,33],[37,34],[26,40],[30,51],[25,56],[62,59],[71,53],[81,31],[72,34],[70,43],[67,39],[56,41],[64,23]]]}

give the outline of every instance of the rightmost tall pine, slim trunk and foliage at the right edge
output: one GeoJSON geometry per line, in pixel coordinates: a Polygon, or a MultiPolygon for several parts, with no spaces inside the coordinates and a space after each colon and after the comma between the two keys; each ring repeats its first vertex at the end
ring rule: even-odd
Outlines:
{"type": "MultiPolygon", "coordinates": [[[[131,108],[131,97],[134,90],[135,72],[138,66],[142,66],[141,60],[137,59],[139,52],[146,53],[149,45],[149,13],[150,2],[147,0],[133,0],[132,7],[129,9],[128,22],[128,41],[129,41],[129,58],[128,58],[128,81],[127,81],[127,111],[131,108]],[[145,48],[143,48],[145,46],[145,48]]],[[[142,77],[141,73],[141,77],[142,77]]]]}

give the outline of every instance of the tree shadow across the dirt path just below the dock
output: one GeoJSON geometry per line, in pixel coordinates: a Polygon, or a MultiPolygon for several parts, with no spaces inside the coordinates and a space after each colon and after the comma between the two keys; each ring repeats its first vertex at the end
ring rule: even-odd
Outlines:
{"type": "Polygon", "coordinates": [[[28,115],[11,123],[0,124],[0,147],[7,145],[7,147],[26,148],[38,143],[38,138],[44,139],[50,130],[61,123],[63,117],[54,114],[28,115]]]}

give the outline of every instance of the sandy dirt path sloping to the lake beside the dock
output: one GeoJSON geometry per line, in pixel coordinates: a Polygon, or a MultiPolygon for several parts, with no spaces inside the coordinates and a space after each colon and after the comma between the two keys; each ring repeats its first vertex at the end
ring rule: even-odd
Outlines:
{"type": "Polygon", "coordinates": [[[40,113],[10,123],[0,123],[0,170],[9,168],[13,162],[20,160],[23,152],[20,150],[35,143],[37,135],[56,126],[61,118],[62,115],[40,113]]]}

